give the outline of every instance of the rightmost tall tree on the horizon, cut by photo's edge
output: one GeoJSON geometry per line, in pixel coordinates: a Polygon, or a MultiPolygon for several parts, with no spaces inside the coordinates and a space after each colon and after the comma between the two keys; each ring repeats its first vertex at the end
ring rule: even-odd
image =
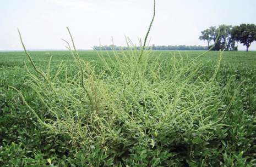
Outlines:
{"type": "Polygon", "coordinates": [[[250,44],[256,41],[256,25],[241,24],[240,26],[235,26],[231,31],[231,37],[235,41],[246,45],[246,51],[248,51],[250,44]]]}

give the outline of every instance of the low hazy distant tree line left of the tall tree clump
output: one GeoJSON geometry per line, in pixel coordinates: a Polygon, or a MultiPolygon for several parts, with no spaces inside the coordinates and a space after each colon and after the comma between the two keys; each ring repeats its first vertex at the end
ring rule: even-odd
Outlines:
{"type": "MultiPolygon", "coordinates": [[[[132,49],[134,49],[134,47],[131,47],[132,49]]],[[[208,47],[207,46],[200,46],[200,45],[194,45],[194,46],[187,46],[187,45],[175,45],[175,46],[172,46],[172,45],[168,45],[168,46],[165,46],[165,45],[152,45],[152,46],[149,46],[149,49],[152,50],[208,50],[208,47]]],[[[116,49],[116,50],[119,50],[119,49],[123,49],[123,50],[128,50],[128,47],[117,47],[116,45],[105,45],[105,46],[102,46],[101,48],[98,47],[98,46],[94,46],[94,49],[96,50],[112,50],[112,49],[116,49]]],[[[137,47],[138,50],[140,50],[140,47],[137,47]]]]}

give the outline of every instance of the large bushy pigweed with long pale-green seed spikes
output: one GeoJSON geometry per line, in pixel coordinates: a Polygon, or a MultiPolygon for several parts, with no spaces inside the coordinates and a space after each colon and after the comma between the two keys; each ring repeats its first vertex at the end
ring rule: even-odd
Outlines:
{"type": "Polygon", "coordinates": [[[197,76],[197,71],[199,57],[208,51],[190,62],[175,54],[170,54],[168,60],[160,61],[160,55],[155,56],[146,47],[150,27],[144,44],[140,41],[140,49],[126,38],[128,50],[117,51],[113,48],[111,54],[107,53],[107,60],[99,51],[105,68],[97,73],[93,64],[80,59],[67,27],[74,50],[65,42],[79,68],[74,76],[68,76],[67,68],[62,63],[56,73],[51,74],[51,58],[46,72],[37,69],[20,36],[25,53],[37,73],[28,70],[26,83],[40,97],[47,112],[51,113],[51,119],[40,118],[20,91],[10,88],[18,91],[25,105],[48,129],[48,133],[69,136],[69,144],[74,145],[77,152],[83,150],[88,156],[97,145],[105,151],[105,155],[121,157],[128,164],[135,165],[137,160],[157,165],[157,162],[167,159],[157,158],[157,155],[160,152],[169,153],[170,149],[164,148],[172,142],[207,133],[210,138],[212,129],[222,126],[234,98],[225,111],[219,110],[231,82],[230,79],[224,88],[220,88],[214,81],[223,51],[219,52],[212,77],[204,82],[197,76]],[[64,80],[59,79],[62,71],[66,76],[64,80]],[[131,154],[138,153],[140,148],[158,149],[159,152],[151,152],[151,157],[149,154],[143,157],[143,152],[137,157],[131,154]],[[128,154],[134,158],[133,162],[126,161],[128,154]]]}

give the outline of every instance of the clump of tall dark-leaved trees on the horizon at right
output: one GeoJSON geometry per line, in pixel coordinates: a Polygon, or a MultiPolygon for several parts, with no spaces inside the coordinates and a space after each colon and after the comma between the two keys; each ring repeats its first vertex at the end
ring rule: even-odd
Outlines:
{"type": "Polygon", "coordinates": [[[217,39],[213,50],[237,51],[237,43],[240,42],[246,46],[246,51],[248,51],[250,44],[256,41],[256,26],[255,24],[241,24],[239,26],[220,25],[218,28],[211,26],[201,31],[199,39],[207,41],[208,48],[211,48],[217,39]],[[219,38],[217,39],[219,32],[219,38]]]}

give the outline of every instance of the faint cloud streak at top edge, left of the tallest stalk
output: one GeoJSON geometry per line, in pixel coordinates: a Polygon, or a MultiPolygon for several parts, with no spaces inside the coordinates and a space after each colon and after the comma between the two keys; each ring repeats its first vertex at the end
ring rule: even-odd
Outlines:
{"type": "Polygon", "coordinates": [[[95,9],[92,7],[92,3],[87,3],[81,0],[48,0],[48,2],[57,4],[57,5],[63,5],[66,7],[75,7],[75,8],[80,8],[88,11],[94,11],[95,9]]]}

